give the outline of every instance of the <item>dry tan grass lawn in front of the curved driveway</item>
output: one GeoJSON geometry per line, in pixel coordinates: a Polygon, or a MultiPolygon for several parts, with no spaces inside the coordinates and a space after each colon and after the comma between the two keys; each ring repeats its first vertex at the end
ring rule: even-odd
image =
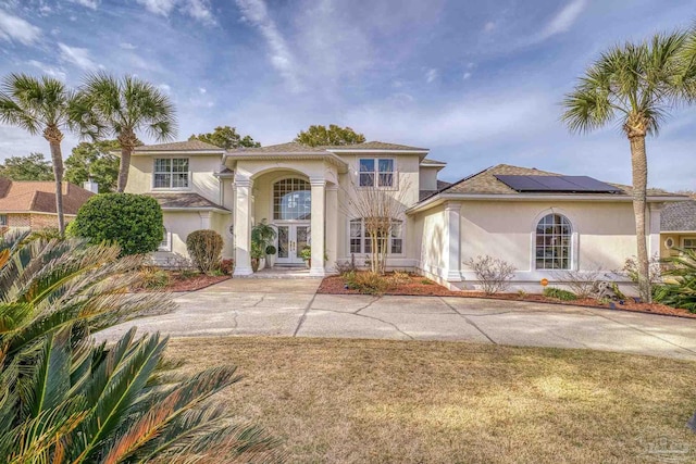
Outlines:
{"type": "Polygon", "coordinates": [[[295,338],[175,339],[169,353],[184,371],[238,365],[245,378],[219,398],[289,462],[655,463],[660,442],[696,462],[692,362],[295,338]]]}

